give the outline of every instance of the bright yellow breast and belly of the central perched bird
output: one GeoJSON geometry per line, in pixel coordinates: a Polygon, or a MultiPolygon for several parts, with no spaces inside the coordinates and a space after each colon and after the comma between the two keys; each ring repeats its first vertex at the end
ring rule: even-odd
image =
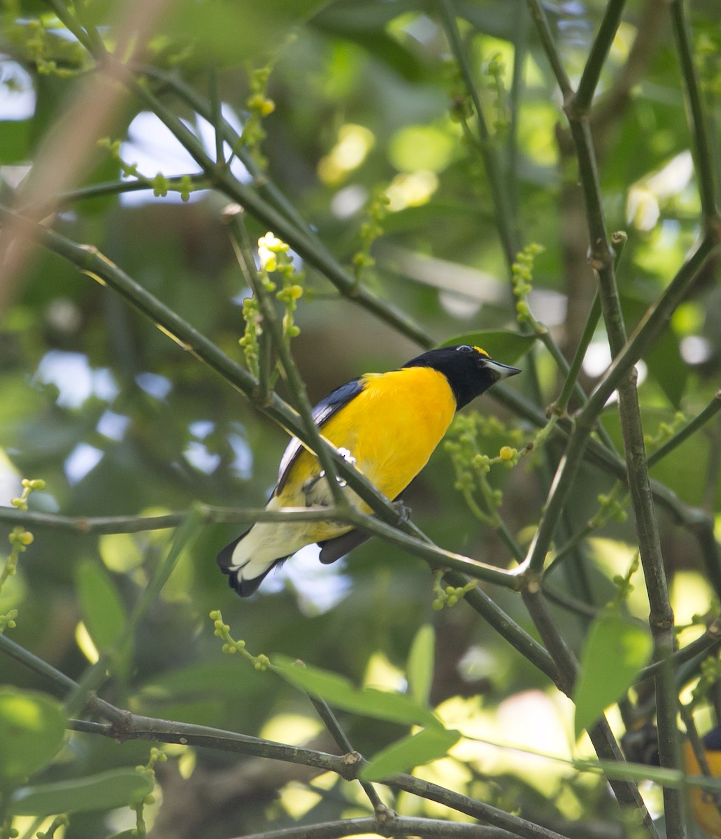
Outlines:
{"type": "MultiPolygon", "coordinates": [[[[371,373],[364,383],[362,393],[321,431],[334,446],[350,452],[385,496],[396,498],[426,466],[451,424],[456,400],[446,377],[431,367],[371,373]]],[[[316,456],[301,451],[279,500],[305,504],[303,484],[320,472],[316,456]]]]}

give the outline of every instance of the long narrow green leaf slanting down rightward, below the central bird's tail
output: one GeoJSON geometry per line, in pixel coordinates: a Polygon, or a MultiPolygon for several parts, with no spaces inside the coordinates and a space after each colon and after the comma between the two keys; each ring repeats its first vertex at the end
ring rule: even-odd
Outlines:
{"type": "Polygon", "coordinates": [[[409,726],[441,726],[431,711],[417,705],[405,694],[370,687],[357,688],[344,676],[330,670],[297,664],[285,656],[275,656],[273,664],[292,685],[320,696],[329,705],[342,708],[343,711],[409,726]]]}

